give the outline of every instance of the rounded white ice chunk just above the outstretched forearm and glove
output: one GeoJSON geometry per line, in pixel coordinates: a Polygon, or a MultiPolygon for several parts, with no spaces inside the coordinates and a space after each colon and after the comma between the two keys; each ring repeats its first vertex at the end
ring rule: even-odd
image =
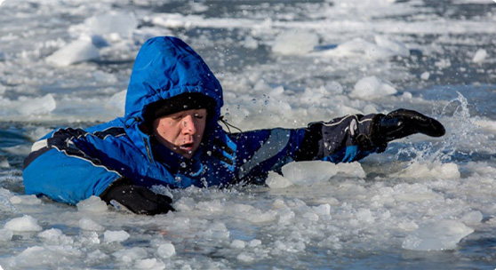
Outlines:
{"type": "Polygon", "coordinates": [[[355,84],[349,97],[355,99],[378,99],[396,94],[396,88],[392,83],[382,80],[376,76],[365,77],[355,84]]]}

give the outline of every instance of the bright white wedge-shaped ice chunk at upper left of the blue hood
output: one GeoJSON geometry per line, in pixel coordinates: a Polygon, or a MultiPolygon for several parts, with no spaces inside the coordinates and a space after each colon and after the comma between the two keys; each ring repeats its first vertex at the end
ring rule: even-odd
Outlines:
{"type": "Polygon", "coordinates": [[[59,51],[53,52],[46,58],[46,61],[60,67],[67,67],[78,62],[99,58],[100,53],[91,40],[76,40],[59,51]]]}

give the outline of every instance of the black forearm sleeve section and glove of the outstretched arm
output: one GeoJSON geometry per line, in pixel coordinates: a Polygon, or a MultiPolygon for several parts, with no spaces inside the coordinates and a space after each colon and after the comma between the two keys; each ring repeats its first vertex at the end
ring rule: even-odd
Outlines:
{"type": "Polygon", "coordinates": [[[441,137],[444,132],[443,124],[403,108],[388,115],[346,115],[327,123],[309,123],[294,160],[321,159],[348,146],[360,146],[363,150],[380,153],[393,139],[414,133],[441,137]]]}

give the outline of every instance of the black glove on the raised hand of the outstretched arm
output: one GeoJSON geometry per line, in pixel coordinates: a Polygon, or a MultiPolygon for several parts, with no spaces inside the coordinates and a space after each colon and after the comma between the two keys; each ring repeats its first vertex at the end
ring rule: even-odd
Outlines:
{"type": "Polygon", "coordinates": [[[404,108],[388,115],[376,115],[372,120],[369,138],[375,146],[386,146],[393,139],[422,133],[431,137],[441,137],[446,131],[442,123],[419,112],[404,108]]]}

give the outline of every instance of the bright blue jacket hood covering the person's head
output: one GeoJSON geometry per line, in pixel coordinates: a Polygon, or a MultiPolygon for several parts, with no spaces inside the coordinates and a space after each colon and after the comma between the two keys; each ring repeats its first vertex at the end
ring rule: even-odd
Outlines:
{"type": "Polygon", "coordinates": [[[222,87],[204,60],[177,37],[148,39],[136,56],[125,100],[124,118],[143,119],[145,107],[182,93],[201,93],[215,100],[216,122],[223,106],[222,87]]]}

